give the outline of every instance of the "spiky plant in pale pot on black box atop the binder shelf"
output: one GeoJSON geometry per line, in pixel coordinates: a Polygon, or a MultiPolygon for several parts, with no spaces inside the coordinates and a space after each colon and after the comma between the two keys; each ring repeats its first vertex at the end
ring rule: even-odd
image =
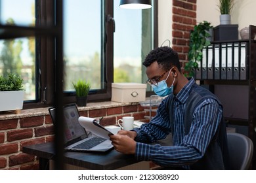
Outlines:
{"type": "Polygon", "coordinates": [[[222,25],[230,24],[230,13],[234,6],[234,0],[219,0],[220,22],[222,25]]]}

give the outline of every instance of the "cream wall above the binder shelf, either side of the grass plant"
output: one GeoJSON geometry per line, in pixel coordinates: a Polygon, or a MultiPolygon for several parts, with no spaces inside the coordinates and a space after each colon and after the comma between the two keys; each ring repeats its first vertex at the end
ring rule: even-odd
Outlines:
{"type": "MultiPolygon", "coordinates": [[[[213,26],[219,25],[219,0],[197,0],[197,22],[207,20],[213,26]]],[[[256,25],[256,1],[234,0],[231,12],[231,24],[238,24],[238,30],[249,25],[256,25]]]]}

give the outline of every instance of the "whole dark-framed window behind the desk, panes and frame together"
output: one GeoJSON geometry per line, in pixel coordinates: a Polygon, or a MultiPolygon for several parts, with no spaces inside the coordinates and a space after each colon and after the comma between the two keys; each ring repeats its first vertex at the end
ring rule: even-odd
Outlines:
{"type": "MultiPolygon", "coordinates": [[[[78,79],[91,82],[89,101],[110,100],[112,82],[144,83],[142,61],[154,44],[154,9],[121,9],[119,0],[63,2],[64,102],[75,101],[72,82],[78,79]]],[[[11,18],[15,25],[53,26],[58,20],[57,4],[51,0],[1,0],[0,21],[10,24],[11,18]]],[[[27,93],[24,108],[53,104],[55,46],[51,37],[0,41],[0,74],[16,71],[22,75],[27,93]],[[5,54],[7,48],[11,55],[5,54]],[[6,63],[14,69],[6,69],[6,63]]]]}

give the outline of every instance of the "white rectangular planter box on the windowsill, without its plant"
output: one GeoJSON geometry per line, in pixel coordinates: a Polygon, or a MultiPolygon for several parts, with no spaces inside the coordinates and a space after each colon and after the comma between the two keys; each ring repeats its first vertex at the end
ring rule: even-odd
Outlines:
{"type": "Polygon", "coordinates": [[[0,111],[23,108],[24,90],[0,92],[0,111]]]}

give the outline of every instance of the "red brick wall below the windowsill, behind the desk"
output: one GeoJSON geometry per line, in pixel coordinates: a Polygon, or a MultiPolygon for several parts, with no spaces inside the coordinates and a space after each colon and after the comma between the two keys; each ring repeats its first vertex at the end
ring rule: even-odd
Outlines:
{"type": "MultiPolygon", "coordinates": [[[[148,122],[148,115],[140,105],[81,110],[81,116],[101,118],[102,125],[115,125],[123,116],[148,122]]],[[[22,146],[53,141],[53,123],[49,114],[11,120],[0,120],[0,170],[39,169],[37,157],[22,153],[22,146]]]]}

